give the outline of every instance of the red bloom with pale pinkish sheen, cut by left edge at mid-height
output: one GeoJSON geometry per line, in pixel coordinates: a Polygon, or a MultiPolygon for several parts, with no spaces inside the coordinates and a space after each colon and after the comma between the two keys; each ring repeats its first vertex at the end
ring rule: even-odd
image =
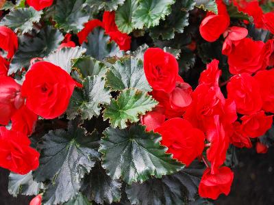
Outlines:
{"type": "Polygon", "coordinates": [[[24,104],[21,85],[11,77],[0,77],[0,124],[7,125],[12,115],[24,104]]]}

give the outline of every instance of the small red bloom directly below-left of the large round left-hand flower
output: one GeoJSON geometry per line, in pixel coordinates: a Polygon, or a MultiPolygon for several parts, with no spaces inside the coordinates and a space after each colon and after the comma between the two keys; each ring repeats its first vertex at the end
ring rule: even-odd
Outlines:
{"type": "Polygon", "coordinates": [[[30,111],[27,106],[18,109],[14,115],[12,115],[12,131],[18,131],[24,135],[32,135],[38,115],[30,111]]]}

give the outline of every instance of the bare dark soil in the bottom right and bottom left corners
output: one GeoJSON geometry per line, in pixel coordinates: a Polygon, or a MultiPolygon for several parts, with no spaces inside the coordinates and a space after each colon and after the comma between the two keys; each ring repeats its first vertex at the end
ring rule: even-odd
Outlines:
{"type": "MultiPolygon", "coordinates": [[[[274,204],[274,148],[266,154],[254,149],[238,149],[238,166],[234,168],[234,182],[228,196],[221,195],[214,204],[270,205],[274,204]]],[[[8,171],[0,168],[0,204],[28,205],[32,197],[12,197],[8,193],[8,171]]]]}

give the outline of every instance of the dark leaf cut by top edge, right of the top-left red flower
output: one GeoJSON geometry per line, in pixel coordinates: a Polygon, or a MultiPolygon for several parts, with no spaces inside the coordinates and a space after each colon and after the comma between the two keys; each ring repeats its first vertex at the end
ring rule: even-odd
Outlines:
{"type": "Polygon", "coordinates": [[[86,11],[86,0],[58,0],[54,6],[53,20],[66,33],[77,33],[82,30],[89,16],[86,11]]]}

